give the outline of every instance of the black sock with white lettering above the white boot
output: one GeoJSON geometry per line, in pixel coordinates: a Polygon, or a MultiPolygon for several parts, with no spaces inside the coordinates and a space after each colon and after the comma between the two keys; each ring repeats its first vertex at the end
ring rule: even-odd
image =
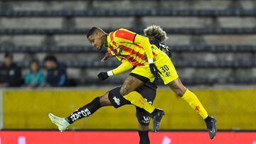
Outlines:
{"type": "Polygon", "coordinates": [[[65,118],[68,123],[74,123],[81,118],[90,116],[92,113],[100,109],[100,97],[96,97],[89,104],[82,106],[80,109],[75,110],[68,118],[65,118]]]}

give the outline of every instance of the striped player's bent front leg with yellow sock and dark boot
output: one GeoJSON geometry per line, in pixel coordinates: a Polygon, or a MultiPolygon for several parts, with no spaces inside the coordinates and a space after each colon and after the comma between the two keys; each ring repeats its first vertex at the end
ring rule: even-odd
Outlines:
{"type": "MultiPolygon", "coordinates": [[[[134,92],[135,89],[144,84],[144,81],[142,79],[143,76],[139,74],[131,74],[127,77],[127,79],[124,80],[124,84],[122,84],[120,89],[120,94],[124,96],[124,99],[127,99],[134,104],[134,106],[138,106],[139,108],[151,113],[151,118],[153,118],[153,131],[158,131],[161,118],[164,116],[164,111],[161,109],[155,109],[154,106],[143,99],[142,94],[139,94],[139,92],[134,92]]],[[[146,79],[146,77],[143,78],[146,79]]]]}

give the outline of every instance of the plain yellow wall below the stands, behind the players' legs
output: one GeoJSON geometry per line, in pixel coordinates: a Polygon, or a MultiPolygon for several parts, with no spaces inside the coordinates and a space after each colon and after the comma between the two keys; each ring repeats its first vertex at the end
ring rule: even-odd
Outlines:
{"type": "MultiPolygon", "coordinates": [[[[53,129],[48,113],[68,116],[107,89],[6,90],[3,92],[4,129],[53,129]]],[[[193,89],[218,129],[256,129],[256,89],[193,89]]],[[[169,89],[159,89],[154,106],[166,111],[162,130],[205,129],[201,117],[169,89]]],[[[70,129],[136,129],[134,106],[100,109],[70,129]]],[[[151,128],[151,127],[150,127],[151,128]]]]}

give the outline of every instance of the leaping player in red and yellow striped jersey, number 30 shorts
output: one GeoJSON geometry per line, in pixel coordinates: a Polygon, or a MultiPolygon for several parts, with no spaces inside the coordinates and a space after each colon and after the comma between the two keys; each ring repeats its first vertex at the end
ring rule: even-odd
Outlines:
{"type": "MultiPolygon", "coordinates": [[[[153,115],[158,112],[156,116],[160,114],[159,119],[161,120],[164,111],[159,113],[161,110],[155,109],[154,106],[151,106],[146,101],[142,101],[142,95],[134,92],[134,89],[137,89],[144,83],[148,81],[154,82],[155,78],[158,79],[161,77],[164,84],[168,84],[178,96],[181,96],[182,99],[187,101],[202,116],[206,124],[209,124],[207,126],[210,138],[214,138],[216,133],[215,118],[208,116],[206,109],[203,108],[197,96],[183,86],[180,79],[178,79],[176,69],[168,55],[159,50],[156,45],[151,45],[149,38],[124,28],[107,34],[101,28],[93,27],[87,33],[87,39],[96,49],[100,50],[105,46],[110,55],[116,57],[117,60],[126,60],[126,62],[129,62],[135,67],[127,79],[125,79],[120,89],[120,94],[124,96],[124,99],[131,101],[132,104],[145,109],[149,113],[153,113],[153,115]]],[[[122,62],[122,65],[119,67],[127,67],[124,63],[122,62]]],[[[110,70],[108,72],[100,72],[98,77],[104,80],[115,74],[119,74],[119,72],[110,70]]],[[[154,122],[156,122],[154,128],[157,131],[160,121],[154,122]]]]}

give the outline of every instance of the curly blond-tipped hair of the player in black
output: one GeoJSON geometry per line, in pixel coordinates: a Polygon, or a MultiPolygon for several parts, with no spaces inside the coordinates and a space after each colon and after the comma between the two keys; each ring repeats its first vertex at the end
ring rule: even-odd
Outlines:
{"type": "Polygon", "coordinates": [[[165,41],[168,39],[166,32],[160,26],[156,25],[146,27],[144,29],[144,35],[146,35],[146,37],[154,37],[159,41],[165,41]]]}

